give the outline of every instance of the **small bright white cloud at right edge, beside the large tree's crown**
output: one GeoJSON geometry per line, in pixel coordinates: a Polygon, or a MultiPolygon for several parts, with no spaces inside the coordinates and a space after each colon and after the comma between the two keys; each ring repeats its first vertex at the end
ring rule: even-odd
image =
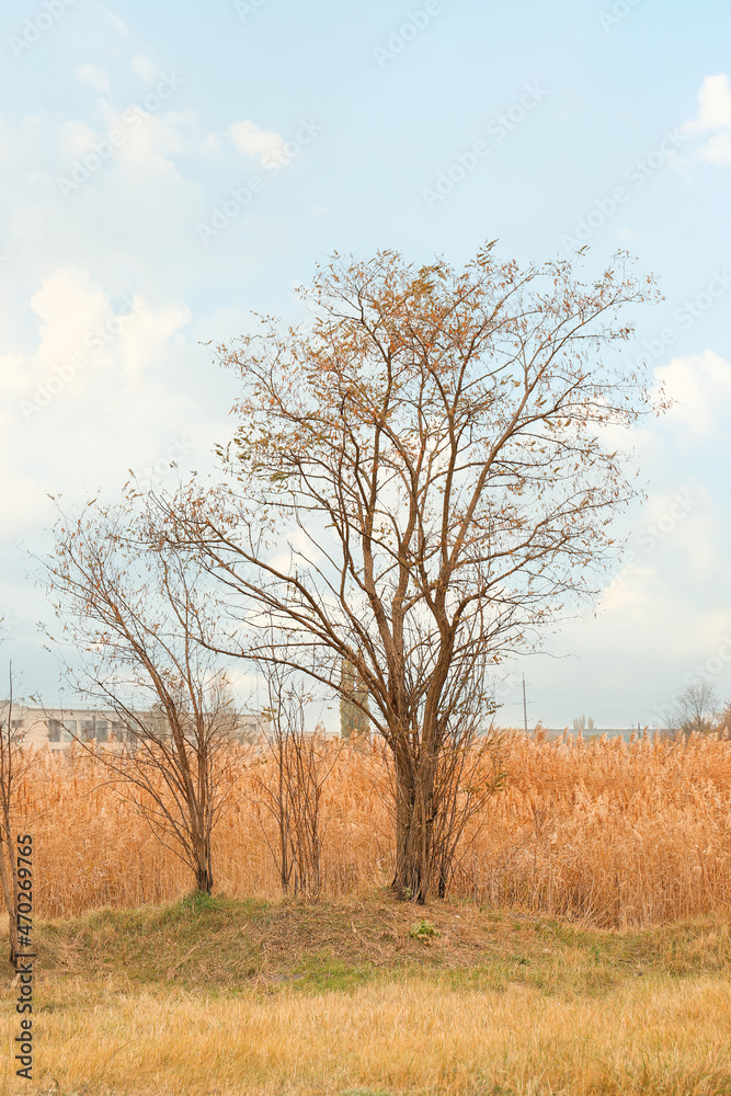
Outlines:
{"type": "Polygon", "coordinates": [[[655,369],[666,395],[674,400],[667,418],[707,433],[722,418],[728,421],[724,403],[731,395],[731,364],[711,350],[690,357],[676,357],[655,369]]]}

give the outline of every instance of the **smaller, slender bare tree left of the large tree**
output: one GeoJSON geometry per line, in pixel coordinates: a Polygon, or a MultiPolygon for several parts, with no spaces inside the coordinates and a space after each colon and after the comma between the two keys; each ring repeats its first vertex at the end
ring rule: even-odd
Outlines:
{"type": "Polygon", "coordinates": [[[83,655],[67,676],[122,728],[123,740],[96,755],[209,893],[212,836],[231,806],[236,724],[226,674],[196,639],[214,627],[215,604],[195,568],[158,550],[133,491],[116,507],[61,516],[55,533],[44,578],[67,642],[83,655]]]}

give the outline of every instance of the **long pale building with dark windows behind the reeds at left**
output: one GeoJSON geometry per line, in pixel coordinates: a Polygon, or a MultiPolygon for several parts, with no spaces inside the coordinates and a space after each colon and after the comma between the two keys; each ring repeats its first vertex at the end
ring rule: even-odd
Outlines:
{"type": "MultiPolygon", "coordinates": [[[[0,727],[8,719],[9,704],[0,701],[0,727]]],[[[139,718],[157,734],[165,734],[167,719],[159,710],[145,711],[139,718]]],[[[231,719],[229,734],[240,744],[254,742],[269,732],[269,722],[260,716],[240,715],[231,719]]],[[[88,708],[33,708],[13,704],[12,731],[22,746],[45,746],[68,750],[72,742],[96,742],[99,745],[122,745],[129,735],[115,711],[88,708]]],[[[169,732],[168,732],[169,733],[169,732]]]]}

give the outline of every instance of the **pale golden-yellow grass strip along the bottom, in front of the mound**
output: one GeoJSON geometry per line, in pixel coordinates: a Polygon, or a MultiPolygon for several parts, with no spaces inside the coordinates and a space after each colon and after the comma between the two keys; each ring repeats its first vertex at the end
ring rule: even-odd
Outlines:
{"type": "MultiPolygon", "coordinates": [[[[104,984],[84,985],[82,995],[65,984],[56,1002],[38,1019],[35,1068],[47,1078],[38,1093],[729,1092],[731,986],[708,977],[640,979],[602,995],[567,996],[516,984],[456,990],[438,977],[316,996],[113,992],[104,984]]],[[[0,1037],[9,1046],[16,1017],[12,1002],[3,1004],[0,1037]]],[[[11,1062],[10,1054],[0,1060],[2,1092],[26,1096],[11,1062]]]]}

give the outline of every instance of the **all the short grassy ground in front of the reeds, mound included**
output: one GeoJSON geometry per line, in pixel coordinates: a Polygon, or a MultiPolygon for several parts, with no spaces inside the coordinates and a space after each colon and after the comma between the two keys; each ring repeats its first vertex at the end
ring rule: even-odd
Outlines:
{"type": "Polygon", "coordinates": [[[214,900],[39,925],[37,946],[37,1081],[8,1054],[4,1093],[731,1096],[727,922],[214,900]]]}

